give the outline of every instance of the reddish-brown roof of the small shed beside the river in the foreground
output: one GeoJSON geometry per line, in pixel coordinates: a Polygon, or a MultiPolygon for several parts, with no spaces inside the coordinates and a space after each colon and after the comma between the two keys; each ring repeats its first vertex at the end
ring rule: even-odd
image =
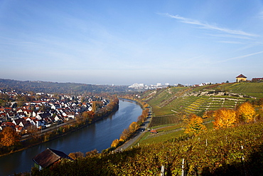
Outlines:
{"type": "Polygon", "coordinates": [[[43,152],[39,153],[38,155],[33,157],[32,160],[36,162],[36,164],[40,165],[41,167],[48,167],[52,165],[54,162],[60,160],[61,158],[73,160],[71,157],[66,155],[64,152],[53,150],[50,148],[47,148],[43,152]]]}

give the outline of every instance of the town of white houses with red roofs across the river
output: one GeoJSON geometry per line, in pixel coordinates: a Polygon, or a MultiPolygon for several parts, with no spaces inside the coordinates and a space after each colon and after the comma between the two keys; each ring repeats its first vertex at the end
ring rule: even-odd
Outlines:
{"type": "Polygon", "coordinates": [[[31,95],[29,93],[18,94],[16,90],[10,92],[0,90],[0,96],[6,100],[0,104],[0,131],[11,127],[21,135],[28,133],[28,130],[33,128],[45,129],[74,120],[85,111],[95,110],[94,101],[100,102],[100,108],[109,103],[109,100],[100,96],[49,93],[31,95]],[[19,99],[22,101],[18,101],[19,99]],[[24,100],[28,101],[23,102],[24,100]]]}

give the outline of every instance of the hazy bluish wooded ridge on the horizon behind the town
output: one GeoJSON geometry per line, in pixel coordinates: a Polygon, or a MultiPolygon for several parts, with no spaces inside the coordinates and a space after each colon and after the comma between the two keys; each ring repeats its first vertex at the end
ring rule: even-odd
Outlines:
{"type": "Polygon", "coordinates": [[[92,85],[84,83],[57,83],[45,81],[16,81],[11,79],[0,79],[1,90],[16,90],[16,92],[35,93],[119,93],[126,92],[128,86],[92,85]]]}

